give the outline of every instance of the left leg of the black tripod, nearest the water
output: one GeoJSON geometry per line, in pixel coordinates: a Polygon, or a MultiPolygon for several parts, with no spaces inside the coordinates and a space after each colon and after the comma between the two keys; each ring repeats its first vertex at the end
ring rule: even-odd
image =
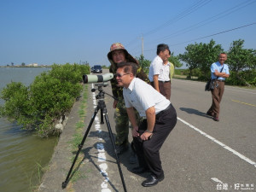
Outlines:
{"type": "Polygon", "coordinates": [[[70,167],[70,170],[69,170],[69,172],[68,172],[68,174],[67,174],[67,178],[66,178],[65,182],[62,183],[62,189],[65,189],[65,188],[67,187],[68,179],[69,179],[69,176],[70,176],[70,174],[71,174],[71,172],[72,172],[72,170],[73,170],[73,166],[75,165],[75,162],[76,162],[76,160],[77,160],[78,157],[79,157],[80,150],[81,150],[81,148],[83,148],[84,141],[85,141],[85,139],[86,139],[86,137],[87,137],[87,135],[88,135],[88,133],[89,133],[89,131],[90,131],[90,127],[91,127],[91,125],[92,125],[92,123],[93,123],[93,121],[94,121],[94,119],[95,119],[95,117],[96,117],[96,113],[98,112],[98,110],[99,110],[99,108],[97,107],[97,108],[95,109],[95,112],[94,112],[92,118],[90,119],[90,124],[88,125],[88,128],[87,128],[87,130],[86,130],[85,133],[84,133],[84,137],[83,137],[82,142],[79,144],[79,150],[78,150],[78,152],[77,152],[77,154],[76,154],[76,156],[75,156],[75,159],[73,160],[73,164],[72,164],[72,166],[70,167]]]}

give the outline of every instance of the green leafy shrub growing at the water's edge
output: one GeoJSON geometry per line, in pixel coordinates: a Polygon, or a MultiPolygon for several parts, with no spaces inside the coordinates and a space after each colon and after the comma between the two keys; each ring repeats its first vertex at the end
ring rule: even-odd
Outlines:
{"type": "Polygon", "coordinates": [[[82,75],[89,74],[88,65],[54,64],[41,73],[29,86],[12,82],[3,88],[0,115],[34,130],[40,137],[58,133],[55,123],[73,106],[82,90],[82,75]]]}

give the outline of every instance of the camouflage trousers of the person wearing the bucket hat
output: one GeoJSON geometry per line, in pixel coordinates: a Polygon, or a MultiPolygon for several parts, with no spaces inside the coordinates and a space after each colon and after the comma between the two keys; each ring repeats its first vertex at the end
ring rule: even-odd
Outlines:
{"type": "MultiPolygon", "coordinates": [[[[137,113],[136,109],[134,109],[136,112],[136,119],[137,119],[137,125],[142,122],[142,118],[139,117],[139,114],[137,113]]],[[[129,135],[129,118],[128,113],[126,112],[125,108],[125,100],[124,98],[119,97],[119,102],[115,108],[114,113],[114,121],[115,121],[115,131],[116,131],[116,145],[122,145],[129,143],[128,141],[128,135],[129,135]]]]}

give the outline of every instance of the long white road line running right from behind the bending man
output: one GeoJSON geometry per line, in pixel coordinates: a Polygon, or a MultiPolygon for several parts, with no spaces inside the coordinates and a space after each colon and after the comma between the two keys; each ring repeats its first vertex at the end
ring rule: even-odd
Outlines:
{"type": "Polygon", "coordinates": [[[201,131],[200,129],[196,128],[194,125],[189,124],[188,122],[186,122],[183,119],[180,119],[177,117],[178,120],[180,120],[181,122],[183,122],[183,124],[188,125],[190,128],[192,128],[195,131],[198,131],[201,135],[203,135],[204,137],[209,138],[210,140],[212,140],[212,142],[217,143],[218,145],[220,145],[221,147],[227,149],[228,151],[230,151],[233,154],[236,154],[236,156],[240,157],[241,160],[245,160],[247,161],[247,163],[251,164],[252,166],[256,167],[256,162],[253,160],[250,160],[249,158],[247,158],[246,156],[244,156],[243,154],[240,154],[239,152],[237,152],[236,150],[234,150],[233,148],[230,148],[229,146],[225,145],[224,143],[219,142],[216,138],[209,136],[207,133],[205,133],[204,131],[201,131]]]}

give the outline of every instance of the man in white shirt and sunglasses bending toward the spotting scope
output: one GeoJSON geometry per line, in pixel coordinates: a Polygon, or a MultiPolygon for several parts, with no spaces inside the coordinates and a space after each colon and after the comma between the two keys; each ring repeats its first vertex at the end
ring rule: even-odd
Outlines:
{"type": "Polygon", "coordinates": [[[116,79],[118,86],[124,87],[125,108],[133,127],[132,137],[139,161],[139,166],[131,172],[151,172],[142,185],[154,186],[165,177],[160,148],[177,123],[177,113],[165,96],[136,78],[135,63],[122,62],[117,67],[116,79]],[[134,108],[144,118],[140,125],[137,125],[134,108]]]}

